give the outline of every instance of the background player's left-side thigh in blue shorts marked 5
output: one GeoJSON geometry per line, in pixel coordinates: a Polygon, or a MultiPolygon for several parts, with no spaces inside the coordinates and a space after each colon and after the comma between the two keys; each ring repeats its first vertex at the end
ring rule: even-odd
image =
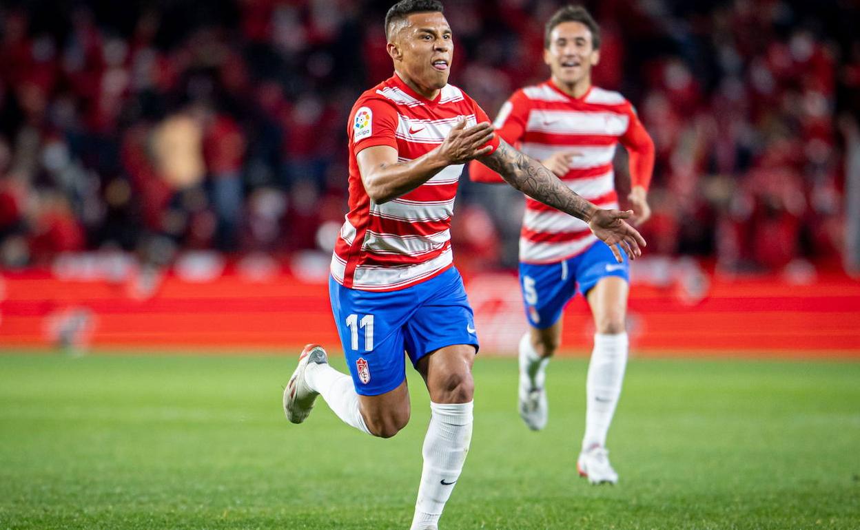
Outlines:
{"type": "Polygon", "coordinates": [[[550,264],[519,264],[525,318],[537,329],[554,326],[564,307],[576,294],[574,274],[569,261],[550,264]]]}

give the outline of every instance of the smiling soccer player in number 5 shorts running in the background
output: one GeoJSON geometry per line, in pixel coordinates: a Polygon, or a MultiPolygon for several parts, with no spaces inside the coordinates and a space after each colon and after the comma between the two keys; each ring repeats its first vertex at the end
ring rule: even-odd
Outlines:
{"type": "MultiPolygon", "coordinates": [[[[551,77],[515,92],[494,125],[502,140],[542,161],[559,181],[602,208],[617,208],[612,159],[617,143],[630,154],[634,222],[650,216],[646,200],[654,168],[654,143],[630,102],[594,87],[591,70],[600,58],[600,31],[587,10],[567,6],[545,28],[544,62],[551,77]]],[[[484,166],[470,178],[501,181],[484,166]]],[[[562,309],[586,296],[596,333],[588,367],[586,432],[577,468],[592,484],[618,480],[606,450],[606,433],[621,393],[627,364],[628,262],[617,263],[585,222],[526,198],[519,237],[519,280],[530,329],[519,342],[519,415],[529,428],[548,417],[545,370],[562,337],[562,309]]]]}

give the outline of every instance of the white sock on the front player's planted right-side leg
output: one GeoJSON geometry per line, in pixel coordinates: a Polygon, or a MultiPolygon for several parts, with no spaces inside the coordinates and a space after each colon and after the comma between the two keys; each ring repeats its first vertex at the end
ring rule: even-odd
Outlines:
{"type": "Polygon", "coordinates": [[[424,437],[424,467],[415,503],[413,530],[435,528],[451,491],[460,478],[472,440],[472,408],[469,403],[430,403],[430,426],[424,437]],[[443,484],[444,483],[444,484],[443,484]]]}

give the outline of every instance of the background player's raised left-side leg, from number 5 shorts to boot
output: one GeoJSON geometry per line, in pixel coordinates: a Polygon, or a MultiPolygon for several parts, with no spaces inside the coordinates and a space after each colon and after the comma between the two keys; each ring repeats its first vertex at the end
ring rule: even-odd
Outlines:
{"type": "Polygon", "coordinates": [[[519,417],[532,430],[544,429],[549,405],[546,368],[562,338],[562,310],[574,295],[568,262],[519,265],[519,282],[529,330],[519,340],[519,417]]]}

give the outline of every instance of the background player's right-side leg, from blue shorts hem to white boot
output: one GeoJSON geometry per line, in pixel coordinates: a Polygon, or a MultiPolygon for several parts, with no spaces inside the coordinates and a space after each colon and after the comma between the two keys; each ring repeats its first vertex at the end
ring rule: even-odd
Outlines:
{"type": "Polygon", "coordinates": [[[617,264],[605,245],[585,256],[581,289],[594,318],[595,334],[586,381],[586,432],[577,464],[593,484],[617,482],[606,451],[606,435],[621,395],[627,366],[627,264],[617,264]],[[624,265],[624,266],[622,266],[624,265]]]}

